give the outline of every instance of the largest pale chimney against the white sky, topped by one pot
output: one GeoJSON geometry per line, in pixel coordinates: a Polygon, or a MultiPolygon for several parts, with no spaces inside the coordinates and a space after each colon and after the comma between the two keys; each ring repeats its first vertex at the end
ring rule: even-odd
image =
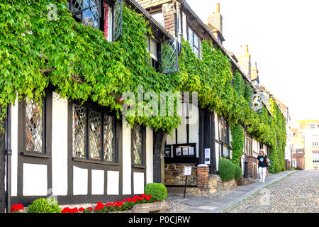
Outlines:
{"type": "Polygon", "coordinates": [[[223,16],[220,14],[220,4],[216,4],[216,12],[208,16],[208,28],[218,39],[220,43],[223,43],[225,39],[223,38],[223,16]]]}

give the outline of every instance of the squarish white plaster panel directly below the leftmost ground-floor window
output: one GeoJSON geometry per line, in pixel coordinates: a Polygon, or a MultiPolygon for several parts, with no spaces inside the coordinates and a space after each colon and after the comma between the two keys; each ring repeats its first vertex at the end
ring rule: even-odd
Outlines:
{"type": "Polygon", "coordinates": [[[47,195],[47,165],[23,164],[23,196],[47,195]]]}

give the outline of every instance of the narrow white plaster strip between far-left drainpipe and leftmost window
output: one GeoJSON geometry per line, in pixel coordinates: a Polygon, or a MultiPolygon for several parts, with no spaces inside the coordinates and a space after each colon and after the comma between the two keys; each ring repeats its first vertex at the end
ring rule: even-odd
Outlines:
{"type": "Polygon", "coordinates": [[[11,196],[16,196],[18,191],[18,99],[14,105],[11,104],[11,150],[11,196]]]}

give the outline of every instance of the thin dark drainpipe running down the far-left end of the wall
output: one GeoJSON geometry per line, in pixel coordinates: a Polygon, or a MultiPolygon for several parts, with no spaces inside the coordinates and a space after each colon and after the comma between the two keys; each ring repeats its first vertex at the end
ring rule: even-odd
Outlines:
{"type": "Polygon", "coordinates": [[[11,213],[11,104],[6,108],[6,213],[11,213]]]}

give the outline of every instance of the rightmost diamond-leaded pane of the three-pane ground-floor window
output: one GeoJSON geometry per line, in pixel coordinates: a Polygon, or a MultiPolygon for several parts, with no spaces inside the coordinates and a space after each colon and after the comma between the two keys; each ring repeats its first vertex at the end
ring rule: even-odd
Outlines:
{"type": "Polygon", "coordinates": [[[103,154],[105,161],[115,162],[114,118],[108,115],[103,116],[103,154]]]}

